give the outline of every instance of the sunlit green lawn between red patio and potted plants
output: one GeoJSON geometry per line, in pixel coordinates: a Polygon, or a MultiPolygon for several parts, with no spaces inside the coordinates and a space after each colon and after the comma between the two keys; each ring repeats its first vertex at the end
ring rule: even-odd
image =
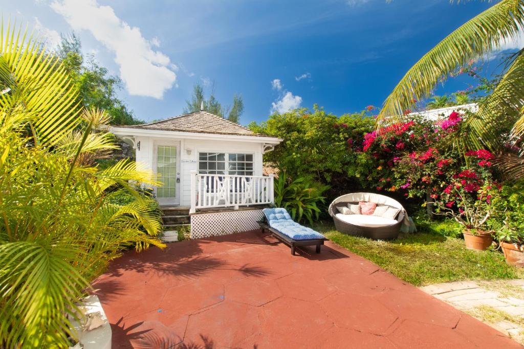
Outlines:
{"type": "Polygon", "coordinates": [[[470,251],[464,240],[422,231],[392,241],[352,237],[324,223],[314,227],[345,247],[415,286],[472,280],[520,278],[524,271],[506,264],[499,251],[470,251]]]}

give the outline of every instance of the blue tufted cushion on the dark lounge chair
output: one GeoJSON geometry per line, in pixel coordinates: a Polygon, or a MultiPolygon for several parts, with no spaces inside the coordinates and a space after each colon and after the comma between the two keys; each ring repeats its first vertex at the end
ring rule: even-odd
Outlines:
{"type": "Polygon", "coordinates": [[[303,227],[293,221],[285,208],[265,208],[262,210],[269,226],[293,240],[325,239],[324,235],[311,228],[303,227]]]}

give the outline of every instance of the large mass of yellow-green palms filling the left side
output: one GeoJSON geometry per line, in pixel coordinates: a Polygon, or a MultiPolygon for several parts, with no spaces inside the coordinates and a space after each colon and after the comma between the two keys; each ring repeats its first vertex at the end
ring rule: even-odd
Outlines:
{"type": "Polygon", "coordinates": [[[162,246],[141,188],[156,182],[134,162],[96,166],[116,148],[93,132],[104,113],[82,110],[60,62],[11,28],[0,31],[0,347],[67,347],[108,261],[162,246]]]}

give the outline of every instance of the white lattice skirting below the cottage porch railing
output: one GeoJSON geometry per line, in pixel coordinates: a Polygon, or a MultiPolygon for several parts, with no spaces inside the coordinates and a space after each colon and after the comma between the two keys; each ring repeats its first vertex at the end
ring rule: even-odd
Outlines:
{"type": "Polygon", "coordinates": [[[258,229],[262,210],[198,213],[191,216],[191,239],[214,237],[258,229]]]}

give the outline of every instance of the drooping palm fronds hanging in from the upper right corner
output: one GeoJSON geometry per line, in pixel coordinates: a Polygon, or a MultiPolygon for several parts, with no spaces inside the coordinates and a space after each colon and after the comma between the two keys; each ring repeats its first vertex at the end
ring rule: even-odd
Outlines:
{"type": "MultiPolygon", "coordinates": [[[[400,116],[412,100],[430,96],[435,85],[457,67],[496,50],[505,40],[517,38],[524,25],[524,0],[502,0],[468,20],[426,53],[386,98],[378,120],[400,116]]],[[[524,104],[524,58],[522,50],[514,54],[493,93],[480,105],[474,117],[466,120],[471,148],[501,147],[497,132],[507,121],[522,116],[524,104]]],[[[522,119],[521,119],[522,120],[522,119]]],[[[524,120],[518,125],[524,125],[524,120]]],[[[524,130],[517,128],[517,131],[524,130]]]]}

